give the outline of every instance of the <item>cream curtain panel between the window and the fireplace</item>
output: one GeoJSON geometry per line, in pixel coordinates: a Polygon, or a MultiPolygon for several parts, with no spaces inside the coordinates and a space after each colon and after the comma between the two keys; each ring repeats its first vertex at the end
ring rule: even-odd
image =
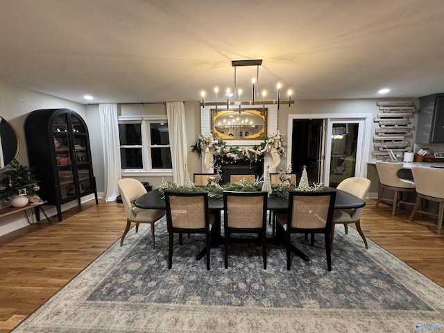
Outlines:
{"type": "Polygon", "coordinates": [[[185,127],[185,106],[183,102],[167,103],[169,145],[173,162],[173,182],[184,184],[187,163],[187,131],[185,127]]]}

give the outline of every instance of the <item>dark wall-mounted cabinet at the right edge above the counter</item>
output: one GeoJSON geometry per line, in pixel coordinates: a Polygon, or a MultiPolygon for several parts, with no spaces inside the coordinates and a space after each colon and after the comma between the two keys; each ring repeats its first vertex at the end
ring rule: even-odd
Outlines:
{"type": "Polygon", "coordinates": [[[444,143],[444,94],[420,97],[416,143],[444,143]]]}

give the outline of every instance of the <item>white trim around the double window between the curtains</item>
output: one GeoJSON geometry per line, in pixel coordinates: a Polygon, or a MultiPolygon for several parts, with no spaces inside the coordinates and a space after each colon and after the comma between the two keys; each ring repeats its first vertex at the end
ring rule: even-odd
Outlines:
{"type": "MultiPolygon", "coordinates": [[[[148,150],[151,149],[151,147],[157,146],[151,146],[151,136],[148,135],[147,132],[148,126],[150,123],[158,123],[159,121],[168,122],[168,118],[166,115],[119,117],[119,123],[140,123],[142,135],[142,159],[144,161],[144,169],[122,169],[122,176],[173,176],[173,169],[151,169],[151,163],[148,160],[148,157],[151,155],[151,153],[148,153],[148,150]]],[[[164,146],[167,145],[162,145],[162,147],[164,146]]]]}

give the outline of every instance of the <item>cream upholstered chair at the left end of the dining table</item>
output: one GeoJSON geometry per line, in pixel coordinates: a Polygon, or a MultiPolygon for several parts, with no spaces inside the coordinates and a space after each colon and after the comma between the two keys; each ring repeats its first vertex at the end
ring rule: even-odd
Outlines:
{"type": "Polygon", "coordinates": [[[134,200],[143,194],[146,194],[146,189],[142,182],[139,182],[139,180],[133,178],[123,178],[119,180],[117,184],[126,213],[126,228],[123,231],[120,246],[123,245],[123,239],[125,239],[126,234],[130,230],[131,223],[136,224],[136,232],[139,232],[140,223],[149,223],[151,224],[151,239],[153,240],[153,248],[155,248],[154,223],[159,221],[165,215],[165,210],[146,210],[144,208],[134,207],[134,200]]]}

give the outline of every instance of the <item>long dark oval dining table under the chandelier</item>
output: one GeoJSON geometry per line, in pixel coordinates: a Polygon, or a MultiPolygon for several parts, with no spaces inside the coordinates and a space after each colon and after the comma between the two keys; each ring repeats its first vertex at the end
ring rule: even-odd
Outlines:
{"type": "MultiPolygon", "coordinates": [[[[350,194],[348,192],[341,191],[341,189],[326,187],[326,190],[336,192],[336,199],[334,201],[335,210],[349,210],[361,208],[366,205],[366,202],[361,198],[358,198],[357,196],[354,196],[353,194],[350,194]]],[[[205,187],[203,187],[203,191],[205,191],[205,187]]],[[[159,189],[154,189],[153,191],[146,192],[146,194],[143,194],[135,200],[134,205],[136,207],[144,209],[167,209],[167,204],[165,203],[165,199],[163,198],[162,192],[159,189]]],[[[267,210],[285,212],[288,210],[288,206],[288,198],[275,194],[271,194],[270,196],[268,196],[267,210]]],[[[212,246],[216,246],[223,243],[223,241],[221,241],[223,239],[223,237],[221,237],[221,211],[223,211],[223,198],[209,198],[208,210],[216,215],[216,219],[212,227],[212,246]]],[[[270,240],[277,243],[282,242],[282,240],[278,239],[277,235],[270,240]]],[[[291,250],[293,251],[293,253],[301,257],[306,262],[309,261],[309,257],[305,255],[305,253],[303,253],[300,249],[296,248],[296,246],[292,245],[291,250]]],[[[196,259],[201,259],[204,255],[205,248],[203,248],[203,250],[198,253],[196,259]]]]}

